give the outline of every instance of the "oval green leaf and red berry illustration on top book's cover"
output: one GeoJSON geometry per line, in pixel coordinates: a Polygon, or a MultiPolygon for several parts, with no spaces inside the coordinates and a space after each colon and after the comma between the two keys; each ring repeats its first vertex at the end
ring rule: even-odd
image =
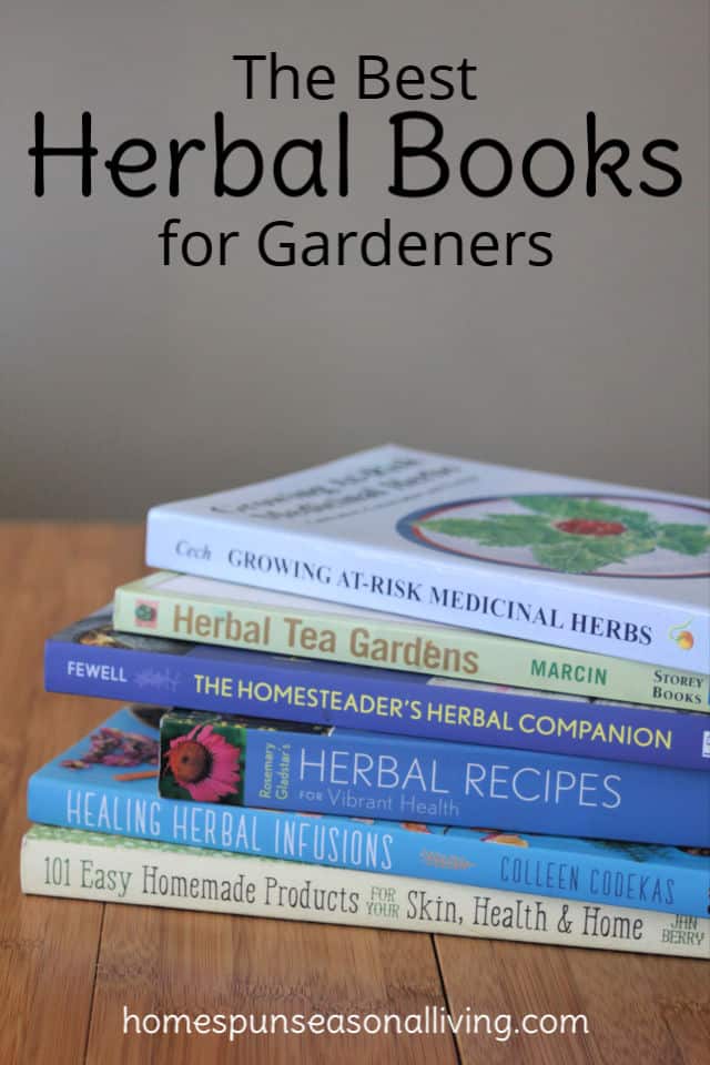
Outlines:
{"type": "Polygon", "coordinates": [[[562,574],[677,578],[710,570],[708,511],[662,499],[466,499],[410,514],[398,530],[434,550],[562,574]]]}

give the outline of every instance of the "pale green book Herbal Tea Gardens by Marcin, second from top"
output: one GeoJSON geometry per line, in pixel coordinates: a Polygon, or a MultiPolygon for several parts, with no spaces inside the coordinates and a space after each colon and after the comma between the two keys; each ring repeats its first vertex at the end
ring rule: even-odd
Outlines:
{"type": "Polygon", "coordinates": [[[182,574],[115,591],[123,632],[710,711],[710,678],[182,574]]]}

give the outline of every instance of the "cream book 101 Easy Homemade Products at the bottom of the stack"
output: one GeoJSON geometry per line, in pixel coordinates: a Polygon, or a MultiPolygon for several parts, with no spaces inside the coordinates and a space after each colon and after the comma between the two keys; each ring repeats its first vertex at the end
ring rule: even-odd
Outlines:
{"type": "Polygon", "coordinates": [[[710,920],[33,825],[22,891],[133,905],[708,958],[710,920]]]}

